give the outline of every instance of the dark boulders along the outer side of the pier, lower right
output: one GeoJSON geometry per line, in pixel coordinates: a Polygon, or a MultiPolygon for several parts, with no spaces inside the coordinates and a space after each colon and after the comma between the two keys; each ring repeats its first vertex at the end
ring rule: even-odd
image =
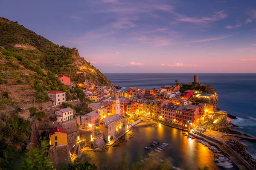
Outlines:
{"type": "Polygon", "coordinates": [[[252,167],[256,167],[256,160],[250,156],[247,151],[246,147],[236,140],[229,139],[227,140],[227,144],[236,151],[244,160],[246,160],[252,167]]]}

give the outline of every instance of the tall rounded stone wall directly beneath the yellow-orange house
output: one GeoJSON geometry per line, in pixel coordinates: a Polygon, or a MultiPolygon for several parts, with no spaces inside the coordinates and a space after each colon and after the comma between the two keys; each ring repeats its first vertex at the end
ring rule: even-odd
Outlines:
{"type": "Polygon", "coordinates": [[[51,147],[49,156],[54,162],[54,166],[58,169],[67,167],[71,164],[70,153],[67,144],[51,147]]]}

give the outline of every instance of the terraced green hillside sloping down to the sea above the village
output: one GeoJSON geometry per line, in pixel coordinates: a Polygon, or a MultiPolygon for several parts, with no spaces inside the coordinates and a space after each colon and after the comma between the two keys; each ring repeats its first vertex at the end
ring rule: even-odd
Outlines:
{"type": "Polygon", "coordinates": [[[61,75],[70,77],[74,84],[92,82],[116,88],[81,58],[76,48],[54,44],[0,17],[0,104],[32,102],[34,98],[35,102],[46,102],[46,91],[69,91],[58,80],[61,75]]]}

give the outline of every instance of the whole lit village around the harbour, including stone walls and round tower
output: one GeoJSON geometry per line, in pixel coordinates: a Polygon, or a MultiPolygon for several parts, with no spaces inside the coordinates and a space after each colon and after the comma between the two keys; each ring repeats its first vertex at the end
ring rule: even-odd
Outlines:
{"type": "MultiPolygon", "coordinates": [[[[72,87],[69,77],[61,76],[59,79],[72,87]]],[[[201,85],[198,76],[194,76],[194,82],[190,84],[201,85]]],[[[198,133],[204,133],[206,126],[212,129],[212,134],[214,130],[225,132],[226,127],[232,125],[227,119],[227,112],[218,109],[218,94],[213,88],[209,90],[212,93],[202,93],[199,90],[180,92],[178,84],[154,89],[130,87],[127,90],[114,90],[86,82],[77,86],[83,89],[90,112],[76,115],[76,111],[70,107],[54,111],[54,128],[49,133],[49,154],[55,165],[74,162],[88,148],[112,146],[142,120],[198,133]],[[70,130],[71,124],[77,125],[77,129],[70,130]]],[[[63,91],[50,91],[48,96],[55,106],[67,102],[63,91]]]]}

